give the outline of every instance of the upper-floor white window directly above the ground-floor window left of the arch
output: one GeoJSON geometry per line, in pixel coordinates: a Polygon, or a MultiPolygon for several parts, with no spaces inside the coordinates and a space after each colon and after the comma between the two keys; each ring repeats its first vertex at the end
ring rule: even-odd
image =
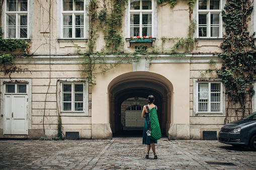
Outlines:
{"type": "Polygon", "coordinates": [[[85,0],[62,0],[62,38],[84,38],[85,0]]]}

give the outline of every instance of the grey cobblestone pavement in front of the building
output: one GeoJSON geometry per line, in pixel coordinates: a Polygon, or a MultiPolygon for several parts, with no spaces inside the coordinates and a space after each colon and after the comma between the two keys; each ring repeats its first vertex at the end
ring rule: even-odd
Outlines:
{"type": "Polygon", "coordinates": [[[141,137],[112,140],[0,140],[0,169],[256,169],[256,152],[217,140],[168,140],[144,158],[141,137]],[[228,162],[233,165],[208,164],[228,162]]]}

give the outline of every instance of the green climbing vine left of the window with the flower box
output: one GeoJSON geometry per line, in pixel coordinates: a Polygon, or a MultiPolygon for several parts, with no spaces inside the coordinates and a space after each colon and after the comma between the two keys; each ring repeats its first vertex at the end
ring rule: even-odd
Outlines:
{"type": "Polygon", "coordinates": [[[96,75],[105,73],[117,65],[124,62],[138,62],[139,57],[124,51],[124,38],[122,36],[123,13],[125,10],[126,0],[98,1],[91,0],[89,5],[90,33],[87,43],[88,50],[82,51],[77,47],[78,54],[84,58],[83,73],[86,73],[90,84],[96,84],[96,75]],[[103,31],[105,47],[96,51],[95,38],[98,32],[103,31]],[[114,64],[107,63],[107,55],[112,55],[115,60],[114,64]]]}

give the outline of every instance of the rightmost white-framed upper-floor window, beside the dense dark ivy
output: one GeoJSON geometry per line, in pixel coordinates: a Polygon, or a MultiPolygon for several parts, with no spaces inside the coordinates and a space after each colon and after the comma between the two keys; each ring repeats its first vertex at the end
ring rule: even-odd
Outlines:
{"type": "Polygon", "coordinates": [[[219,38],[222,36],[221,0],[199,0],[197,3],[197,37],[219,38]]]}

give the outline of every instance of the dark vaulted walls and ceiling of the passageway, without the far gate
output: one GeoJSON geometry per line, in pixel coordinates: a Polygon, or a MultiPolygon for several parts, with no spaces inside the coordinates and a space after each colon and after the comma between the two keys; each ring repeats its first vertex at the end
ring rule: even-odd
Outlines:
{"type": "Polygon", "coordinates": [[[109,116],[112,133],[123,130],[121,123],[121,106],[129,98],[147,98],[155,96],[158,119],[162,133],[168,131],[170,124],[170,91],[173,86],[163,76],[149,72],[131,72],[116,77],[109,84],[109,116]],[[166,129],[167,128],[167,129],[166,129]]]}

